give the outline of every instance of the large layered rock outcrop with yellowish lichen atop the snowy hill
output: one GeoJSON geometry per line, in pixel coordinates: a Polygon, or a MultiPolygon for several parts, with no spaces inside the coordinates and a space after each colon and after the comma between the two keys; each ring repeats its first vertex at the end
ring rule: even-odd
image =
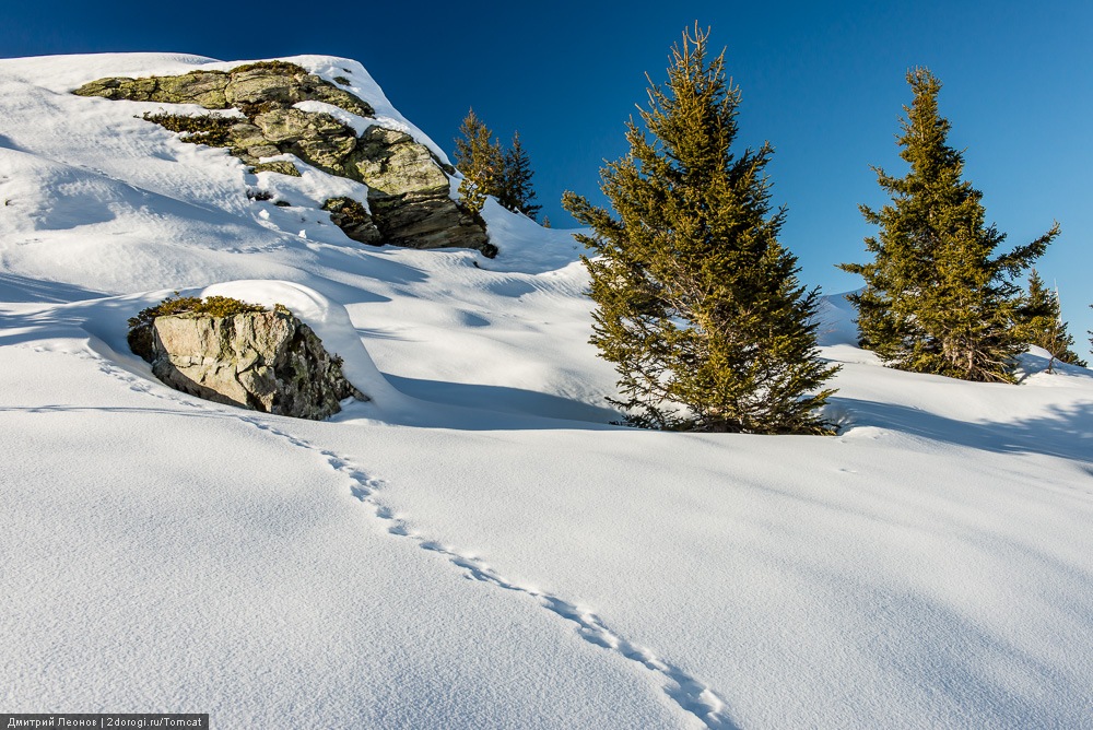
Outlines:
{"type": "MultiPolygon", "coordinates": [[[[321,102],[359,117],[374,116],[372,106],[294,63],[263,61],[231,71],[191,71],[178,76],[99,79],[77,89],[81,96],[110,99],[198,104],[207,109],[238,109],[243,117],[145,115],[145,119],[180,132],[186,141],[227,148],[255,169],[292,174],[286,161],[266,157],[293,154],[331,175],[368,187],[369,221],[353,220],[346,235],[366,244],[410,248],[473,248],[493,257],[485,223],[461,209],[449,195],[445,166],[409,134],[378,125],[356,131],[325,111],[296,108],[321,102]],[[271,167],[270,165],[274,165],[271,167]],[[362,236],[374,228],[378,236],[362,236]]],[[[314,107],[313,107],[314,108],[314,107]]],[[[363,207],[362,207],[363,208],[363,207]]],[[[339,222],[343,219],[334,219],[339,222]]]]}

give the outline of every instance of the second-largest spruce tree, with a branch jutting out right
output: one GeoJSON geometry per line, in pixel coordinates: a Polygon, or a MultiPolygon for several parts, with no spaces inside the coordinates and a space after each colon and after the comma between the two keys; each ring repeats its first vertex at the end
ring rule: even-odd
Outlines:
{"type": "Polygon", "coordinates": [[[897,138],[910,165],[902,178],[880,168],[892,203],[861,205],[880,226],[866,238],[870,263],[844,263],[865,289],[858,309],[861,344],[889,365],[966,380],[1012,381],[1013,357],[1023,349],[1015,326],[1021,303],[1013,279],[1032,266],[1058,235],[1058,223],[1025,246],[996,255],[1006,238],[986,225],[983,193],[961,179],[961,151],[947,143],[950,123],[938,114],[941,82],[926,69],[907,73],[915,94],[897,138]]]}

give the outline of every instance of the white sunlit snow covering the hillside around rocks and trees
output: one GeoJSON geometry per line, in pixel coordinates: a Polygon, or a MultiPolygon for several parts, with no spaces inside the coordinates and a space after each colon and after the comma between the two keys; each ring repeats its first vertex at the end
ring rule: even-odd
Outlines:
{"type": "MultiPolygon", "coordinates": [[[[289,60],[426,141],[357,63],[289,60]]],[[[364,248],[317,210],[361,186],[67,93],[205,66],[0,61],[5,711],[1093,728],[1093,373],[885,369],[832,297],[837,437],[612,426],[568,232],[491,202],[494,260],[364,248]],[[290,306],[373,401],[166,388],[125,320],[173,291],[290,306]]]]}

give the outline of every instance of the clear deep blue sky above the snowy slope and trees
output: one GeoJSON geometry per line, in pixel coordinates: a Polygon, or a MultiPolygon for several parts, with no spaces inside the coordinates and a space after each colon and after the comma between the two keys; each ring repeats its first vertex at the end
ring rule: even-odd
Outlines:
{"type": "Polygon", "coordinates": [[[860,285],[835,270],[862,260],[858,203],[884,198],[869,165],[902,173],[894,134],[904,74],[927,66],[989,221],[1016,245],[1062,236],[1038,268],[1088,350],[1093,327],[1093,2],[915,3],[224,2],[5,3],[0,56],[186,51],[222,60],[329,54],[360,60],[395,105],[451,149],[468,107],[536,169],[544,212],[569,220],[565,189],[598,196],[623,121],[661,81],[668,51],[697,20],[728,48],[743,93],[743,144],[769,140],[783,242],[825,292],[860,285]],[[673,7],[674,5],[674,7],[673,7]]]}

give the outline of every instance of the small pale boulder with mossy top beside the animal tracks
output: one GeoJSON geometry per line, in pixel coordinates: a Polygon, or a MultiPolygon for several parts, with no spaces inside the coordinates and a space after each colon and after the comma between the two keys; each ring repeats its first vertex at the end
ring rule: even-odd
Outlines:
{"type": "Polygon", "coordinates": [[[283,310],[156,317],[129,342],[165,385],[218,403],[319,421],[346,398],[368,400],[312,328],[283,310]]]}

